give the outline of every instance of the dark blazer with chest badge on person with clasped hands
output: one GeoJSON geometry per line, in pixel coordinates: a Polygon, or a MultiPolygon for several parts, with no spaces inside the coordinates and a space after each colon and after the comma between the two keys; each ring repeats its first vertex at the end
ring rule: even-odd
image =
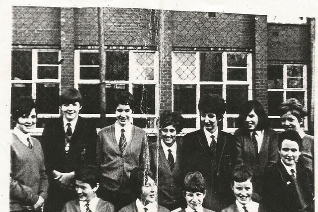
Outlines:
{"type": "Polygon", "coordinates": [[[79,116],[70,141],[70,150],[66,153],[63,117],[49,121],[42,135],[48,176],[53,177],[53,170],[72,172],[82,164],[95,163],[96,137],[95,124],[79,116]]]}

